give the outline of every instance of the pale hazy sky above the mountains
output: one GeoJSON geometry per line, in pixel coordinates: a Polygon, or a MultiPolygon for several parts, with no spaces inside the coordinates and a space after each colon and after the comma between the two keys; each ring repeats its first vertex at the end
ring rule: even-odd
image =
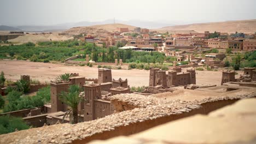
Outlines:
{"type": "Polygon", "coordinates": [[[172,24],[256,19],[255,0],[0,0],[0,25],[107,19],[172,24]]]}

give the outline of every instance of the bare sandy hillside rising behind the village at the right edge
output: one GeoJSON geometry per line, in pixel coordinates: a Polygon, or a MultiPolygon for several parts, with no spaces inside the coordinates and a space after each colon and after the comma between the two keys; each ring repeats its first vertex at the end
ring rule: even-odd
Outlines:
{"type": "Polygon", "coordinates": [[[190,25],[179,25],[162,27],[155,29],[155,31],[196,31],[196,32],[224,32],[224,33],[254,33],[256,32],[256,20],[243,21],[225,21],[225,22],[210,22],[210,23],[194,23],[190,25]]]}

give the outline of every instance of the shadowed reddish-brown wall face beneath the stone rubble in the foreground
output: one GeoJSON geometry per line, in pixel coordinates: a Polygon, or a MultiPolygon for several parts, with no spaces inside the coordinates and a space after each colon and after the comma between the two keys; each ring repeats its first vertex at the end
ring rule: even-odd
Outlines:
{"type": "Polygon", "coordinates": [[[72,143],[86,143],[92,140],[106,140],[115,136],[135,134],[140,131],[155,127],[156,125],[171,122],[180,118],[189,117],[196,114],[207,115],[211,111],[217,110],[226,105],[233,104],[237,100],[238,99],[220,100],[220,101],[214,101],[211,103],[201,104],[202,107],[200,107],[199,109],[194,109],[190,112],[184,112],[179,115],[170,115],[170,116],[160,117],[156,119],[149,119],[143,122],[130,123],[126,126],[121,125],[119,127],[116,127],[114,130],[103,131],[103,133],[97,133],[97,134],[91,135],[89,137],[86,137],[86,139],[83,139],[83,140],[75,140],[72,143]]]}

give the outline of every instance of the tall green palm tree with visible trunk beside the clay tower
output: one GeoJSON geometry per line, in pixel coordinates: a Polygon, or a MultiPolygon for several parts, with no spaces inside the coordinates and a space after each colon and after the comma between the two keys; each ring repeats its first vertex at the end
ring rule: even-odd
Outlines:
{"type": "Polygon", "coordinates": [[[78,85],[71,85],[68,88],[68,92],[61,92],[59,94],[60,100],[71,108],[72,112],[69,111],[69,113],[73,115],[73,122],[72,119],[70,119],[70,122],[74,124],[78,123],[78,105],[82,99],[79,97],[81,91],[82,88],[78,85]]]}

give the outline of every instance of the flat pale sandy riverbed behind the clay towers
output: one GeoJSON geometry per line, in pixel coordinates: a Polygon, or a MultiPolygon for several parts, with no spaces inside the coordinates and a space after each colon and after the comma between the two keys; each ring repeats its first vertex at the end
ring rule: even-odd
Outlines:
{"type": "MultiPolygon", "coordinates": [[[[80,67],[69,66],[64,64],[53,63],[39,63],[27,61],[0,61],[0,71],[4,71],[5,77],[11,80],[20,79],[20,75],[30,75],[31,79],[37,79],[41,82],[50,82],[54,80],[57,75],[63,73],[79,73],[80,76],[93,79],[98,77],[97,67],[80,67]]],[[[185,69],[183,69],[184,71],[185,69]]],[[[242,74],[242,71],[238,71],[242,74]]],[[[239,76],[239,75],[236,75],[239,76]]],[[[113,79],[128,79],[130,86],[148,86],[149,83],[149,70],[112,70],[113,79]]],[[[222,79],[222,71],[196,71],[197,84],[212,84],[220,85],[222,79]]]]}

